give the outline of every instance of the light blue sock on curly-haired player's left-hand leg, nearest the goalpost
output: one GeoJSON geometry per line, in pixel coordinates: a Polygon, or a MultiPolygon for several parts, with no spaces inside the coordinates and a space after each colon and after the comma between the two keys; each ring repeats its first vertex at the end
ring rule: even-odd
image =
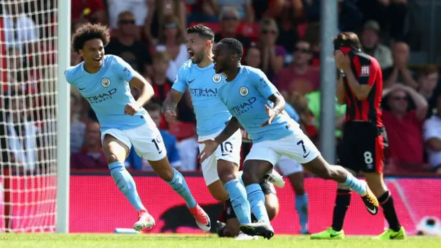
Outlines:
{"type": "Polygon", "coordinates": [[[137,210],[145,209],[138,192],[136,192],[135,181],[127,169],[125,169],[123,162],[114,162],[109,165],[110,175],[118,186],[119,190],[123,192],[125,198],[129,200],[130,204],[137,210]]]}

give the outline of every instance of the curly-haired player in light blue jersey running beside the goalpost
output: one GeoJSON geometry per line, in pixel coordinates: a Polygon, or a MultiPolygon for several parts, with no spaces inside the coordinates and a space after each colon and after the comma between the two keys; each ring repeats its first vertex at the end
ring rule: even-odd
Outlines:
{"type": "Polygon", "coordinates": [[[103,25],[85,25],[76,30],[72,47],[84,62],[68,68],[65,78],[88,100],[101,124],[101,141],[110,174],[139,214],[133,228],[136,231],[151,228],[155,221],[141,203],[134,180],[124,166],[132,145],[185,200],[198,227],[209,231],[208,215],[194,200],[182,174],[170,165],[161,134],[142,107],[154,94],[152,86],[120,57],[104,55],[109,39],[109,30],[103,25]],[[129,84],[142,92],[136,101],[129,84]]]}

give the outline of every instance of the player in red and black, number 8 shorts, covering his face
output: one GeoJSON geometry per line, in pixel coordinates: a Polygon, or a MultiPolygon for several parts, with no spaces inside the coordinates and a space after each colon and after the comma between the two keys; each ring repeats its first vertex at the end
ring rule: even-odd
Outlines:
{"type": "MultiPolygon", "coordinates": [[[[404,239],[406,232],[400,227],[393,198],[382,174],[387,136],[380,110],[383,91],[380,65],[373,57],[360,52],[361,43],[352,32],[338,34],[334,49],[336,66],[340,69],[336,90],[338,103],[347,105],[347,123],[338,159],[351,174],[364,172],[367,184],[378,197],[389,229],[377,238],[404,239]]],[[[340,184],[337,188],[332,227],[311,235],[313,239],[345,238],[342,227],[351,202],[351,189],[340,184]]]]}

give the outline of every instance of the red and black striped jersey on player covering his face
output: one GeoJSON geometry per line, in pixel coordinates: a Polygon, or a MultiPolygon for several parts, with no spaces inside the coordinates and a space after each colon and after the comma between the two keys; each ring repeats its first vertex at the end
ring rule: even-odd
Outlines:
{"type": "Polygon", "coordinates": [[[382,127],[382,113],[380,109],[383,79],[378,61],[362,52],[351,50],[348,54],[351,59],[351,69],[362,85],[370,85],[371,91],[364,100],[359,100],[353,94],[345,74],[343,83],[346,91],[346,121],[367,121],[377,127],[382,127]]]}

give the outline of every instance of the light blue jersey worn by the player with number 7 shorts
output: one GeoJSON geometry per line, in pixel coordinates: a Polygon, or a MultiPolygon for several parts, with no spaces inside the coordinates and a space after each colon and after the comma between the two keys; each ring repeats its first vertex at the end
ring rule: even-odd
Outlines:
{"type": "Polygon", "coordinates": [[[251,136],[253,143],[276,141],[293,134],[298,127],[286,112],[274,118],[271,125],[260,127],[268,120],[265,105],[273,106],[268,97],[278,92],[261,70],[241,65],[236,78],[219,89],[220,99],[227,105],[232,116],[251,136]]]}

